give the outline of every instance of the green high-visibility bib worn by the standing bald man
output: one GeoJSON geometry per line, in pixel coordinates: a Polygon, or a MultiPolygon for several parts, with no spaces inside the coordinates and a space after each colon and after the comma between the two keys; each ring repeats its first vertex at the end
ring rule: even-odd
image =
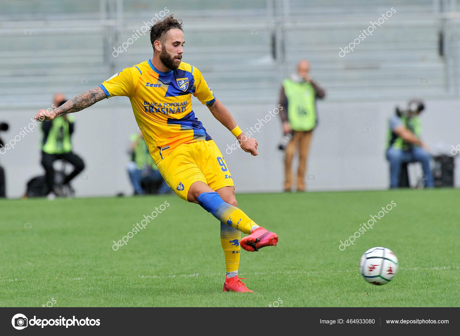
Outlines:
{"type": "Polygon", "coordinates": [[[288,98],[288,120],[296,131],[312,130],[316,126],[316,91],[308,82],[296,83],[291,79],[283,81],[284,93],[288,98]]]}

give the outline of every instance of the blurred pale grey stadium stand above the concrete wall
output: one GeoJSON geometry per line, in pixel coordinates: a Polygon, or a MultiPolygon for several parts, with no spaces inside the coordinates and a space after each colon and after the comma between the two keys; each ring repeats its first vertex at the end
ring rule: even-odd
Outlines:
{"type": "MultiPolygon", "coordinates": [[[[460,8],[458,2],[449,4],[460,8]]],[[[449,30],[443,41],[447,54],[440,56],[439,11],[451,9],[441,1],[404,1],[373,36],[339,57],[339,47],[348,46],[391,3],[44,0],[37,6],[3,1],[0,105],[49,104],[57,91],[78,94],[150,58],[148,35],[118,57],[112,52],[165,7],[186,24],[183,60],[198,67],[224,101],[275,102],[282,78],[300,58],[311,60],[312,77],[335,101],[395,100],[408,91],[425,98],[456,94],[458,67],[450,57],[457,50],[451,43],[456,28],[449,30]],[[209,10],[195,9],[203,7],[209,10]]]]}

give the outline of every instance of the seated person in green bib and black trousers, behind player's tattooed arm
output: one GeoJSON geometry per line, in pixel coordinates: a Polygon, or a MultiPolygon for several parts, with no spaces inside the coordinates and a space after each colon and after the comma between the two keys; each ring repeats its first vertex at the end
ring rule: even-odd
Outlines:
{"type": "MultiPolygon", "coordinates": [[[[55,94],[54,106],[59,107],[67,100],[63,94],[55,94]]],[[[84,168],[85,163],[72,152],[70,137],[75,130],[75,119],[68,115],[54,118],[41,123],[43,138],[41,141],[41,165],[45,168],[46,190],[48,199],[54,199],[63,194],[62,189],[71,189],[70,181],[84,168]],[[74,170],[65,176],[60,189],[54,185],[54,161],[61,159],[74,166],[74,170]]]]}

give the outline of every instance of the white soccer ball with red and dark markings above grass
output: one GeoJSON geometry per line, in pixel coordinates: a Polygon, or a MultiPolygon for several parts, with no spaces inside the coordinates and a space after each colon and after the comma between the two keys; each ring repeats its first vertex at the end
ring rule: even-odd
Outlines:
{"type": "Polygon", "coordinates": [[[368,283],[389,283],[398,271],[398,259],[388,248],[369,248],[359,261],[361,275],[368,283]]]}

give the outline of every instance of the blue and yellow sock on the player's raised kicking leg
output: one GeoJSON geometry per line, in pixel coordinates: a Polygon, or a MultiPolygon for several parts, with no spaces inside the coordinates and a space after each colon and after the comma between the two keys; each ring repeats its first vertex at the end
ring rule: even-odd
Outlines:
{"type": "Polygon", "coordinates": [[[220,197],[216,192],[202,193],[198,196],[198,204],[200,204],[207,212],[211,212],[213,216],[236,230],[239,230],[247,235],[252,233],[252,228],[259,227],[247,214],[242,212],[236,206],[232,206],[220,197]]]}

